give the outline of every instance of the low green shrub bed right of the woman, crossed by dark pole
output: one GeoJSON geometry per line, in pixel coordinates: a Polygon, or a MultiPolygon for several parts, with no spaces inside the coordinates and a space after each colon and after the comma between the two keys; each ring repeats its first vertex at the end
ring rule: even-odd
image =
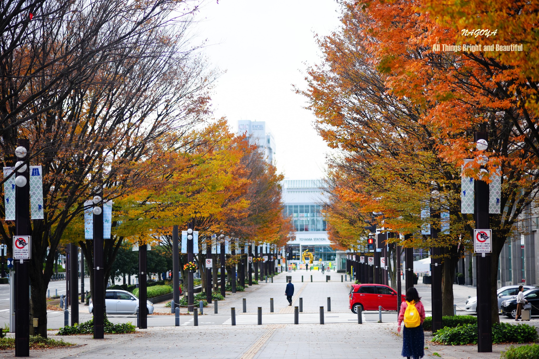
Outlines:
{"type": "MultiPolygon", "coordinates": [[[[537,330],[527,324],[494,323],[492,326],[493,344],[528,343],[535,340],[537,340],[537,330]]],[[[477,344],[477,324],[442,328],[434,335],[432,341],[446,345],[477,344]]]]}

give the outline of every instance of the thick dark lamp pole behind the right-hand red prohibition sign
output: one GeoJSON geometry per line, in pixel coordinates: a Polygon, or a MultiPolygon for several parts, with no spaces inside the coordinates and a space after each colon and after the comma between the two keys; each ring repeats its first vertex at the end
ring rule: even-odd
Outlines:
{"type": "MultiPolygon", "coordinates": [[[[487,132],[474,133],[474,139],[488,140],[487,132]]],[[[474,181],[474,213],[475,228],[489,229],[489,192],[488,184],[482,180],[474,181]]],[[[475,237],[475,236],[474,236],[475,237]]],[[[474,244],[476,238],[474,238],[474,244]]],[[[479,353],[492,352],[492,302],[490,298],[490,253],[483,252],[475,256],[477,272],[477,323],[478,323],[478,347],[479,353]]]]}

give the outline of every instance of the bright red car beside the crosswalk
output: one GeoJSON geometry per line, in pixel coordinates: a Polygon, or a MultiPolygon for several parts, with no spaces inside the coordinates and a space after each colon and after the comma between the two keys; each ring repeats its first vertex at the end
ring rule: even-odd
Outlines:
{"type": "MultiPolygon", "coordinates": [[[[350,306],[353,313],[357,313],[357,307],[362,311],[377,311],[382,306],[383,311],[397,310],[397,292],[383,284],[353,284],[350,288],[350,306]]],[[[406,296],[402,295],[402,301],[406,296]]]]}

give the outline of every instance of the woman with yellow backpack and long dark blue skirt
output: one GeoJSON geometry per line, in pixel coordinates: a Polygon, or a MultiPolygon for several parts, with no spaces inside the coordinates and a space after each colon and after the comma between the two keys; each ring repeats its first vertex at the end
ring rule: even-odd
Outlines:
{"type": "Polygon", "coordinates": [[[425,335],[423,333],[423,321],[425,320],[425,308],[421,298],[414,287],[406,291],[406,301],[400,304],[397,331],[400,333],[400,323],[404,321],[403,351],[402,356],[407,359],[422,358],[424,353],[425,335]]]}

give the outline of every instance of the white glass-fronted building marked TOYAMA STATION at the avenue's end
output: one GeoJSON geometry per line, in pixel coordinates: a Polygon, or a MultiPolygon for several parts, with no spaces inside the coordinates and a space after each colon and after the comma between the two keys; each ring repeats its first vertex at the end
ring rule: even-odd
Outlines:
{"type": "Polygon", "coordinates": [[[345,270],[345,253],[330,247],[326,231],[326,221],[322,217],[327,201],[322,180],[285,180],[282,184],[284,216],[292,217],[295,240],[289,241],[287,250],[292,250],[292,263],[302,264],[301,254],[308,250],[314,256],[314,264],[319,260],[333,268],[345,270]]]}

